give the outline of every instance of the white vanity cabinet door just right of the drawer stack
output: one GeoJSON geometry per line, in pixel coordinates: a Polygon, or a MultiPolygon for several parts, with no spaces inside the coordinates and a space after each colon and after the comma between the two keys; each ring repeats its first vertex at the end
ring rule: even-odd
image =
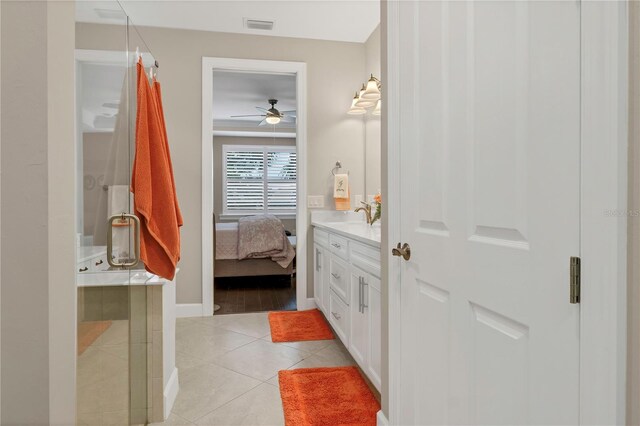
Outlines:
{"type": "Polygon", "coordinates": [[[367,347],[369,340],[367,311],[363,304],[363,283],[367,279],[367,273],[357,266],[351,265],[349,276],[351,277],[351,332],[349,340],[349,352],[363,369],[367,365],[367,347]]]}

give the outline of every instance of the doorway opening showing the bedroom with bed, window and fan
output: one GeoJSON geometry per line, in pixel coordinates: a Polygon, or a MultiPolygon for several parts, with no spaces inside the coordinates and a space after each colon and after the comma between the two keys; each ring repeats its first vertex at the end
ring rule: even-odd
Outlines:
{"type": "Polygon", "coordinates": [[[209,72],[213,314],[296,310],[297,73],[209,72]]]}

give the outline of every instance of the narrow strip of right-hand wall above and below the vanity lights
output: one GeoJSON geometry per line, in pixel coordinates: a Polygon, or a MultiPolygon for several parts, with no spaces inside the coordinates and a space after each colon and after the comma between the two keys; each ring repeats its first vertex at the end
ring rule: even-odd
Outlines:
{"type": "MultiPolygon", "coordinates": [[[[366,72],[375,77],[380,78],[380,26],[378,26],[369,39],[365,43],[366,72]]],[[[382,88],[384,96],[384,87],[382,88]]],[[[381,189],[381,172],[382,165],[380,163],[381,153],[381,134],[380,125],[381,117],[378,115],[367,114],[365,116],[365,140],[366,140],[366,164],[367,164],[367,196],[377,194],[381,189]]]]}

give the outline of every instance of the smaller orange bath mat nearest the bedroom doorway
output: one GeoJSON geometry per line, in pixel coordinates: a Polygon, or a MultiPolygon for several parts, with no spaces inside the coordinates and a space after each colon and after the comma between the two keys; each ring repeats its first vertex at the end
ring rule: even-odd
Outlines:
{"type": "Polygon", "coordinates": [[[309,311],[269,312],[272,342],[330,340],[333,333],[324,315],[317,309],[309,311]]]}

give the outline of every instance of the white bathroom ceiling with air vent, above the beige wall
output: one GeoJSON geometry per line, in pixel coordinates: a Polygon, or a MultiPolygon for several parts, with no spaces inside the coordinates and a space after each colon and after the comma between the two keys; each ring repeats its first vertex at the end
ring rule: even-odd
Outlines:
{"type": "MultiPolygon", "coordinates": [[[[104,23],[95,9],[118,8],[109,3],[115,1],[79,1],[76,19],[104,23]]],[[[121,4],[139,26],[358,43],[365,42],[380,22],[379,0],[121,0],[121,4]],[[244,27],[245,18],[275,25],[272,31],[250,30],[244,27]]]]}

